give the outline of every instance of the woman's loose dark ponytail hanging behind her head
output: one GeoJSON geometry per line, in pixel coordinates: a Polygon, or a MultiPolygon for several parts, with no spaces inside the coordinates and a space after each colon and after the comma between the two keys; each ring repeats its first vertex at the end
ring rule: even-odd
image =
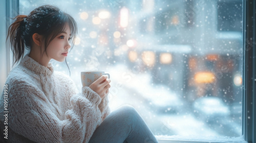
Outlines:
{"type": "MultiPolygon", "coordinates": [[[[8,30],[8,37],[10,36],[11,50],[13,52],[13,64],[17,63],[24,56],[25,52],[25,18],[26,15],[18,15],[14,19],[8,30]]],[[[6,40],[7,40],[6,39],[6,40]]]]}

